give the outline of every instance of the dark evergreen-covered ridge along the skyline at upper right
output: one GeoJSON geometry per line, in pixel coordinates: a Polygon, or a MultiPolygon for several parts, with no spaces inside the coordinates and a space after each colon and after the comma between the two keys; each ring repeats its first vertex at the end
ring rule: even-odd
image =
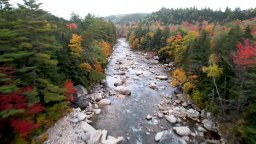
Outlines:
{"type": "Polygon", "coordinates": [[[189,23],[202,22],[206,20],[208,22],[230,22],[233,20],[248,20],[256,16],[256,8],[241,10],[239,7],[231,10],[229,7],[222,10],[212,10],[210,8],[197,9],[195,7],[190,8],[161,8],[144,20],[147,21],[161,21],[164,25],[168,24],[181,24],[185,21],[189,23]]]}

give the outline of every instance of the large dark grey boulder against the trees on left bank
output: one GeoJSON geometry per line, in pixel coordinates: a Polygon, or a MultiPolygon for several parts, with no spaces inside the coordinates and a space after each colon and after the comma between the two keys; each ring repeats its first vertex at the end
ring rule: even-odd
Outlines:
{"type": "Polygon", "coordinates": [[[74,99],[71,101],[72,106],[74,108],[77,108],[77,107],[85,108],[86,106],[89,105],[87,89],[81,85],[75,86],[74,88],[75,88],[75,93],[71,95],[74,97],[74,99]]]}

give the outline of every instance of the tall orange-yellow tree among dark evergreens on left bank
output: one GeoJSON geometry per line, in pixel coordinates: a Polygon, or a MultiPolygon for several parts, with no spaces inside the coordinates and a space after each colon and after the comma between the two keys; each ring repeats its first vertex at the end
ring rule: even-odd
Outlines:
{"type": "Polygon", "coordinates": [[[72,39],[70,40],[70,54],[76,57],[82,57],[82,36],[77,34],[72,34],[72,39]]]}

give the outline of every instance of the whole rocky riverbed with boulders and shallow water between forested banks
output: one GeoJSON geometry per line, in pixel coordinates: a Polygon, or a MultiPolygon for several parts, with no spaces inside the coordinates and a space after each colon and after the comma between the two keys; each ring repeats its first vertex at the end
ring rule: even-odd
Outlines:
{"type": "Polygon", "coordinates": [[[173,63],[133,52],[125,39],[113,50],[106,80],[90,91],[75,87],[77,108],[47,130],[44,143],[226,143],[212,113],[170,86],[173,63]]]}

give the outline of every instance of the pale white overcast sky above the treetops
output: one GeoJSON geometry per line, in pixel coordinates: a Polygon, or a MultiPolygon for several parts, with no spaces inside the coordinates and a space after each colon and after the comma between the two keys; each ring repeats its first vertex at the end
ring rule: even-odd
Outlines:
{"type": "MultiPolygon", "coordinates": [[[[56,16],[69,19],[72,11],[84,17],[91,13],[99,16],[131,14],[131,13],[151,13],[158,11],[162,7],[166,8],[205,8],[213,10],[230,7],[243,9],[255,8],[254,0],[39,0],[42,8],[56,16]]],[[[10,0],[11,4],[23,3],[22,0],[10,0]]]]}

